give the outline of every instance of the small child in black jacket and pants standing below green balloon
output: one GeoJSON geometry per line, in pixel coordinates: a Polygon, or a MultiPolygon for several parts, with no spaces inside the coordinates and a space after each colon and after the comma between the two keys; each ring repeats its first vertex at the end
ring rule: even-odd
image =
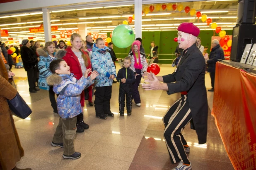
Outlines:
{"type": "Polygon", "coordinates": [[[123,60],[124,67],[121,68],[118,73],[116,80],[120,82],[119,87],[119,111],[120,116],[124,115],[124,101],[126,98],[126,109],[127,115],[132,114],[132,88],[133,83],[135,82],[135,75],[133,70],[130,69],[131,60],[130,57],[126,57],[123,60]]]}

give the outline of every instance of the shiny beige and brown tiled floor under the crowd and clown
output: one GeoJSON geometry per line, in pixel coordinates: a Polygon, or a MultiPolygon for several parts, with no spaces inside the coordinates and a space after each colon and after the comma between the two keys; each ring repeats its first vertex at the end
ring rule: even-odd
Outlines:
{"type": "MultiPolygon", "coordinates": [[[[117,65],[117,70],[119,66],[117,65]]],[[[170,65],[161,65],[159,75],[172,73],[170,65]]],[[[76,151],[82,153],[77,160],[64,160],[63,149],[52,147],[50,142],[58,124],[53,114],[48,91],[29,94],[27,74],[23,68],[13,69],[19,93],[31,106],[33,113],[25,120],[14,117],[25,156],[17,163],[19,168],[33,170],[168,170],[172,165],[163,140],[162,116],[179,94],[167,95],[164,91],[145,91],[141,87],[141,107],[133,107],[132,116],[119,117],[118,89],[113,84],[111,111],[113,118],[95,118],[94,106],[86,101],[85,122],[89,130],[76,135],[76,151]]],[[[210,76],[205,85],[210,88],[210,76]]],[[[143,80],[142,80],[143,82],[143,80]]],[[[198,145],[196,132],[188,127],[184,137],[191,147],[189,159],[193,170],[233,170],[213,117],[210,115],[213,93],[208,93],[208,141],[198,145]]]]}

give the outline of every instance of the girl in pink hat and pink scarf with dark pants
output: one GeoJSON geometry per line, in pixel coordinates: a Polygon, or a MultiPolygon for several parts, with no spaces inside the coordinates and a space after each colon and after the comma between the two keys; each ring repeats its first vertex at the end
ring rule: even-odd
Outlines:
{"type": "Polygon", "coordinates": [[[145,54],[140,52],[140,41],[136,40],[132,44],[132,52],[128,54],[131,59],[130,69],[133,70],[135,74],[136,81],[133,83],[133,93],[132,98],[136,106],[140,107],[140,92],[138,87],[140,85],[140,80],[142,78],[142,73],[147,72],[147,61],[145,54]]]}

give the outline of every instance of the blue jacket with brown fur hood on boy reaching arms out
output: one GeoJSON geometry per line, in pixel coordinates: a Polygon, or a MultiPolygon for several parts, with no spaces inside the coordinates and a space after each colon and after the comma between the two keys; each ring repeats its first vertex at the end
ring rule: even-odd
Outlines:
{"type": "Polygon", "coordinates": [[[61,118],[74,118],[82,113],[80,94],[92,85],[94,80],[82,76],[79,80],[74,74],[53,74],[47,78],[48,85],[53,85],[53,91],[59,94],[57,98],[58,113],[61,118]]]}

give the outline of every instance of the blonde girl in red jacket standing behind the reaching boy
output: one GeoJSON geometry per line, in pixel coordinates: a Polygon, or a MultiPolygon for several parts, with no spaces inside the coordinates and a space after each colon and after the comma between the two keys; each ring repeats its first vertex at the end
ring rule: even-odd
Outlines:
{"type": "MultiPolygon", "coordinates": [[[[73,33],[70,38],[70,43],[72,44],[72,47],[67,47],[65,49],[66,53],[64,54],[64,57],[62,59],[64,59],[67,62],[68,66],[70,66],[70,72],[74,74],[74,77],[76,79],[80,79],[88,68],[92,68],[91,61],[89,59],[89,54],[81,49],[81,35],[73,33]]],[[[83,111],[85,106],[84,92],[82,92],[81,94],[80,103],[83,111]]],[[[89,128],[89,125],[87,125],[83,119],[83,113],[77,115],[77,132],[84,132],[85,129],[89,128]]]]}

